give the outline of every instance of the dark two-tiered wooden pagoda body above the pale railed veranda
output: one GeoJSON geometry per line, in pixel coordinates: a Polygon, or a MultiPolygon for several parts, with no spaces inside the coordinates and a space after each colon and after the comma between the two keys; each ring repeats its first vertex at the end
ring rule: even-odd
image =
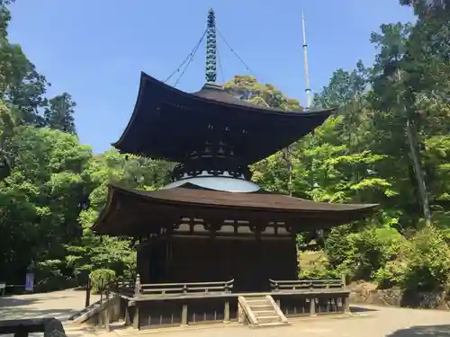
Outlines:
{"type": "Polygon", "coordinates": [[[113,146],[177,163],[172,182],[159,191],[111,184],[94,232],[140,239],[141,284],[232,279],[226,293],[270,292],[271,280],[298,279],[296,234],[347,224],[374,205],[301,200],[251,182],[248,165],[290,146],[334,110],[263,108],[226,93],[215,75],[207,79],[200,91],[184,93],[141,74],[130,122],[113,146]]]}

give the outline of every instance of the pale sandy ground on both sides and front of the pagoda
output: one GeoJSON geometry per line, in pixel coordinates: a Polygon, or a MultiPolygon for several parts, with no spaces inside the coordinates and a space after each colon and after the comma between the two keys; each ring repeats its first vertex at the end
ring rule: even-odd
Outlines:
{"type": "MultiPolygon", "coordinates": [[[[98,297],[91,297],[95,301],[98,297]]],[[[57,317],[65,320],[85,304],[85,293],[64,290],[47,294],[0,297],[0,320],[57,317]]],[[[250,329],[247,326],[189,327],[182,331],[117,330],[94,333],[84,326],[65,324],[70,337],[120,337],[144,335],[164,337],[450,337],[450,312],[365,306],[353,318],[315,318],[296,320],[286,327],[250,329]]]]}

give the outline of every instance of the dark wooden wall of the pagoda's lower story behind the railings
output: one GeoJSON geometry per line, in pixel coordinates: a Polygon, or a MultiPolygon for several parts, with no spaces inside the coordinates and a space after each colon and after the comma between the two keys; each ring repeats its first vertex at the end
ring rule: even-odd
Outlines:
{"type": "Polygon", "coordinates": [[[297,253],[290,237],[171,236],[139,250],[138,270],[142,283],[235,279],[233,292],[270,291],[268,279],[297,279],[297,253]]]}

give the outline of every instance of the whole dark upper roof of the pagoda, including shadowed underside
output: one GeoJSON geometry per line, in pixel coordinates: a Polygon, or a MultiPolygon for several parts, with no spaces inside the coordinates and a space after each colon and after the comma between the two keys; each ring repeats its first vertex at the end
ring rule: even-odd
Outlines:
{"type": "Polygon", "coordinates": [[[236,158],[252,164],[310,133],[335,110],[265,108],[211,84],[197,93],[184,93],[141,73],[130,121],[112,145],[125,153],[183,162],[213,134],[226,137],[235,146],[236,158]]]}

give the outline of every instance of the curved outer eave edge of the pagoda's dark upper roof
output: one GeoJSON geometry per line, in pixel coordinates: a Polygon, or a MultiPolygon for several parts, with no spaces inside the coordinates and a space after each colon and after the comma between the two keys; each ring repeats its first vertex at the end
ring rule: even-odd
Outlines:
{"type": "MultiPolygon", "coordinates": [[[[205,105],[211,105],[211,108],[213,106],[223,106],[228,109],[233,110],[240,110],[240,111],[246,111],[247,113],[254,113],[261,116],[261,114],[269,114],[269,115],[280,115],[284,116],[284,118],[292,118],[293,122],[294,120],[302,120],[307,117],[313,117],[313,116],[320,116],[323,120],[326,120],[329,115],[331,115],[334,111],[337,111],[338,108],[330,108],[326,110],[320,110],[320,111],[283,111],[281,109],[275,109],[275,108],[264,108],[259,107],[257,105],[251,106],[250,104],[232,104],[229,102],[220,102],[220,101],[214,101],[210,99],[206,99],[203,97],[195,96],[193,93],[185,93],[179,89],[174,88],[173,86],[170,86],[168,84],[165,84],[161,81],[158,81],[156,78],[145,74],[144,72],[140,73],[140,81],[139,81],[139,93],[138,98],[136,100],[136,103],[134,105],[133,112],[131,114],[131,118],[127,124],[127,127],[124,129],[123,133],[121,134],[121,137],[118,141],[115,143],[112,143],[112,146],[121,149],[122,144],[125,142],[125,139],[127,135],[130,133],[130,130],[132,129],[132,126],[134,122],[138,119],[139,113],[151,113],[156,111],[145,111],[145,112],[139,112],[141,111],[139,108],[146,99],[148,93],[152,92],[152,88],[157,88],[161,91],[169,92],[174,97],[179,97],[181,99],[185,99],[186,101],[190,102],[202,102],[205,105]]],[[[168,104],[174,104],[176,102],[159,102],[161,105],[163,103],[168,104]]],[[[257,116],[256,116],[257,117],[257,116]]]]}

